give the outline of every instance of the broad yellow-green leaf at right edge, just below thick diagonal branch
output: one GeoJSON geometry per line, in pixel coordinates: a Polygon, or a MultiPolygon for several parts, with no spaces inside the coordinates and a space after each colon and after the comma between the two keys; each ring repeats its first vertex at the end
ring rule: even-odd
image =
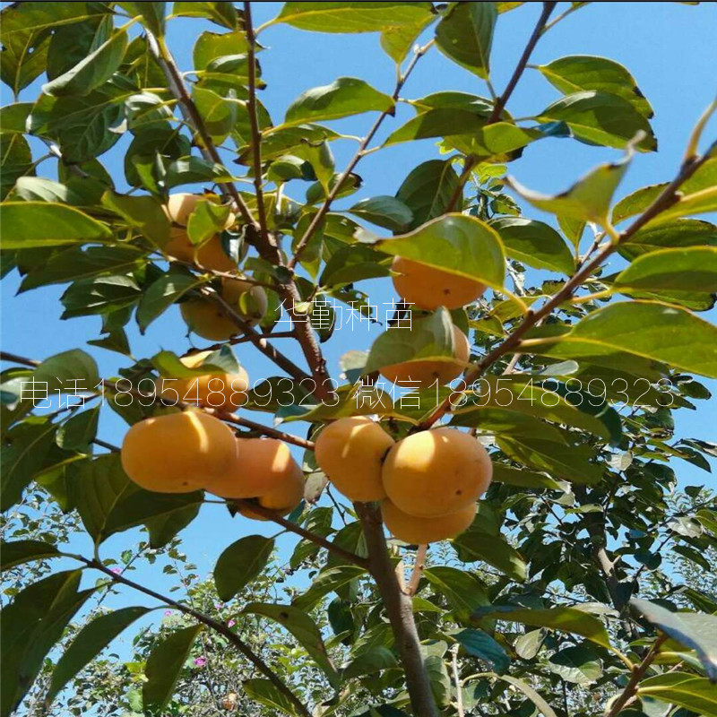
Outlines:
{"type": "Polygon", "coordinates": [[[715,346],[713,324],[648,301],[621,301],[592,312],[567,333],[523,342],[523,350],[544,356],[594,361],[626,352],[711,378],[717,377],[715,346]]]}

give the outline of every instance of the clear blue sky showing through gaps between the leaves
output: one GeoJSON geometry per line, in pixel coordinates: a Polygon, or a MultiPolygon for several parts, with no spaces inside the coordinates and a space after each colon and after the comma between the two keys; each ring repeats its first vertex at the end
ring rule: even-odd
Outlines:
{"type": "MultiPolygon", "coordinates": [[[[565,8],[566,3],[560,6],[565,8]]],[[[268,20],[279,12],[280,7],[281,4],[275,3],[255,4],[255,24],[268,20]]],[[[491,60],[492,82],[497,91],[505,86],[539,13],[540,4],[532,3],[500,16],[491,60]]],[[[219,28],[197,20],[181,19],[170,23],[169,45],[182,70],[191,67],[191,48],[199,30],[216,31],[219,28]]],[[[560,56],[577,54],[610,57],[626,65],[651,101],[655,109],[652,125],[659,139],[660,151],[642,154],[635,159],[618,194],[627,194],[639,186],[674,176],[690,128],[712,101],[717,89],[714,75],[714,68],[717,67],[716,30],[717,4],[595,3],[571,15],[540,40],[531,58],[532,63],[546,64],[560,56]]],[[[263,33],[260,41],[266,48],[260,60],[263,80],[268,85],[261,99],[277,124],[285,108],[300,92],[332,82],[338,76],[360,77],[385,92],[393,89],[393,61],[379,49],[376,34],[316,35],[277,25],[263,33]]],[[[39,84],[33,83],[22,93],[22,99],[36,96],[39,84]]],[[[454,65],[434,49],[420,61],[403,96],[419,98],[439,90],[487,94],[484,83],[475,75],[454,65]]],[[[7,94],[4,88],[4,101],[10,101],[7,94]]],[[[557,97],[557,91],[539,73],[528,70],[508,109],[514,117],[530,116],[557,97]]],[[[408,108],[400,108],[398,117],[386,122],[382,136],[411,115],[412,111],[408,108]]],[[[371,122],[373,117],[364,115],[341,120],[333,126],[347,134],[362,135],[371,122]]],[[[707,134],[717,134],[714,122],[707,134]]],[[[116,177],[120,189],[124,187],[122,157],[127,144],[128,138],[125,137],[101,158],[116,177]]],[[[337,168],[345,165],[354,149],[355,143],[333,144],[337,168]]],[[[574,141],[546,139],[528,147],[523,158],[511,165],[510,172],[525,186],[553,192],[566,188],[595,164],[617,159],[619,154],[618,151],[574,141]]],[[[369,155],[358,168],[358,173],[364,178],[364,188],[350,201],[376,194],[394,194],[411,168],[437,156],[432,140],[400,144],[369,155]]],[[[49,166],[49,162],[42,165],[42,172],[48,172],[49,166]]],[[[291,187],[290,192],[300,198],[304,188],[303,185],[291,187]]],[[[68,322],[59,320],[62,312],[59,297],[64,287],[43,288],[15,297],[18,283],[16,272],[2,282],[2,338],[7,350],[33,358],[46,358],[59,351],[82,346],[84,341],[99,336],[98,317],[68,322]]],[[[379,318],[383,318],[381,302],[392,298],[388,283],[385,280],[372,281],[362,286],[370,291],[374,303],[379,305],[379,318]]],[[[711,313],[714,321],[714,312],[711,313]]],[[[172,307],[152,324],[147,336],[141,337],[133,331],[130,339],[135,356],[141,358],[151,356],[160,348],[177,353],[185,351],[185,333],[177,307],[172,307]]],[[[346,327],[335,333],[326,350],[333,375],[339,373],[337,360],[344,351],[365,349],[375,336],[376,333],[367,333],[363,326],[353,332],[346,327]]],[[[252,381],[276,374],[272,365],[254,350],[246,346],[239,349],[238,356],[252,381]]],[[[93,347],[90,347],[90,352],[98,360],[100,371],[105,376],[116,373],[118,366],[128,363],[128,359],[119,354],[93,347]]],[[[712,382],[713,392],[715,387],[712,382]]],[[[681,435],[714,439],[716,412],[714,399],[709,404],[700,402],[700,410],[696,413],[678,411],[681,435]]],[[[301,429],[298,427],[298,430],[301,429]]],[[[103,411],[101,437],[118,444],[124,431],[124,423],[111,410],[103,411]]],[[[712,480],[706,473],[685,462],[676,462],[675,468],[687,483],[712,480]]],[[[262,523],[231,520],[220,506],[206,505],[200,517],[184,533],[185,549],[199,564],[200,571],[206,573],[221,549],[249,532],[272,533],[273,528],[262,523]]],[[[108,540],[102,550],[103,555],[113,555],[116,549],[125,547],[127,540],[128,533],[108,540]]],[[[156,578],[157,583],[164,581],[165,578],[156,578]]]]}

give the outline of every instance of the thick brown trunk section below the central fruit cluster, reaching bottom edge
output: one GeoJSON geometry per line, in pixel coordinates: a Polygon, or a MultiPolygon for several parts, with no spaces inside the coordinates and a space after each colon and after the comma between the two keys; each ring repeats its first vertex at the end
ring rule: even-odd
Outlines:
{"type": "Polygon", "coordinates": [[[414,717],[438,717],[428,672],[420,649],[419,634],[413,619],[413,605],[398,583],[384,538],[381,514],[375,505],[355,503],[368,549],[368,566],[384,600],[406,673],[406,687],[414,717]]]}

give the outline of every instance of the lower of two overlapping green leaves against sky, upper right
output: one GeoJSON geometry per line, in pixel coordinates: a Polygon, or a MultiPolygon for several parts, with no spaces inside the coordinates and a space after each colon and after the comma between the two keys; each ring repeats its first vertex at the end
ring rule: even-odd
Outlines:
{"type": "Polygon", "coordinates": [[[604,92],[575,92],[553,102],[536,117],[540,122],[565,122],[574,137],[587,144],[626,147],[638,132],[639,151],[656,151],[657,140],[650,123],[633,105],[604,92]]]}

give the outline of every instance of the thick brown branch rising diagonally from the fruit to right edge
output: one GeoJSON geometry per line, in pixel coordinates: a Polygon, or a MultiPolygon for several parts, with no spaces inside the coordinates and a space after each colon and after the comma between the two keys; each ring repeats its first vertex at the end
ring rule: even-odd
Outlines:
{"type": "MultiPolygon", "coordinates": [[[[594,258],[584,263],[582,268],[575,272],[573,277],[566,281],[563,288],[560,289],[557,294],[553,295],[550,300],[544,304],[538,311],[529,311],[523,319],[523,323],[520,324],[515,331],[508,336],[505,341],[500,343],[494,350],[490,351],[486,356],[480,359],[480,361],[469,371],[465,376],[466,384],[471,384],[477,378],[482,376],[486,369],[492,366],[498,358],[503,356],[510,350],[519,347],[523,336],[528,333],[533,326],[538,324],[543,318],[550,315],[553,309],[559,307],[564,301],[571,298],[574,292],[580,288],[583,282],[588,279],[592,272],[595,272],[600,268],[601,264],[611,255],[621,244],[628,241],[630,238],[635,236],[635,233],[642,229],[645,224],[650,220],[654,219],[660,212],[668,209],[672,204],[678,201],[678,189],[684,182],[692,177],[706,160],[709,159],[709,152],[706,152],[702,157],[691,157],[686,160],[679,170],[678,176],[675,177],[668,186],[666,186],[661,194],[652,202],[652,204],[621,234],[618,235],[616,241],[606,246],[599,254],[595,255],[594,258]]],[[[430,428],[439,420],[445,416],[445,413],[450,409],[450,402],[448,399],[442,402],[436,410],[434,410],[427,419],[425,419],[420,425],[419,429],[424,430],[430,428]]]]}

